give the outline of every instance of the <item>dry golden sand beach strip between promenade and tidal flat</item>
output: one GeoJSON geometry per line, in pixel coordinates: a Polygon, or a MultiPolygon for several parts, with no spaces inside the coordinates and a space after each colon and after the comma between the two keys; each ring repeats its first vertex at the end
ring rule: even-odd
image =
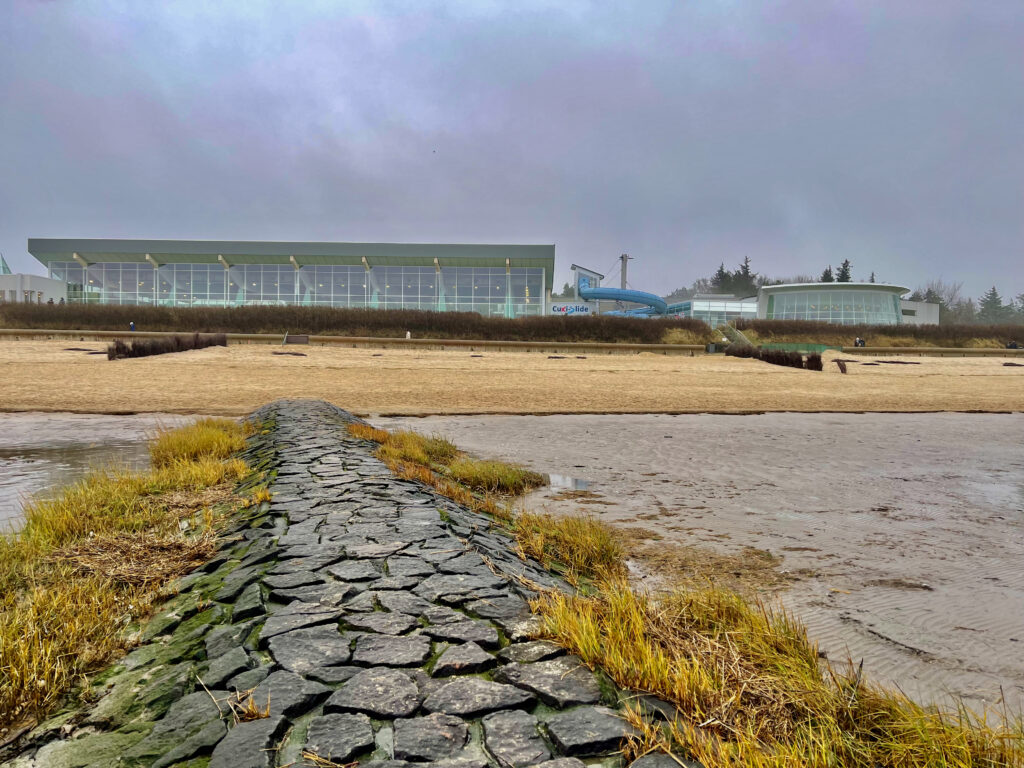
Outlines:
{"type": "Polygon", "coordinates": [[[999,357],[913,357],[842,375],[720,355],[429,351],[236,345],[110,361],[0,341],[0,410],[242,415],[278,397],[358,414],[1022,411],[1024,368],[999,357]]]}

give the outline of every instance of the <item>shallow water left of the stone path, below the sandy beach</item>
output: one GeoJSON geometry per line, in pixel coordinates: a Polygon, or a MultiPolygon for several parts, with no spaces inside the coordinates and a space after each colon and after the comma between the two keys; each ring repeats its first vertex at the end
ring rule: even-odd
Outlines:
{"type": "Polygon", "coordinates": [[[20,525],[26,500],[90,470],[147,467],[146,436],[181,416],[0,414],[0,531],[20,525]]]}

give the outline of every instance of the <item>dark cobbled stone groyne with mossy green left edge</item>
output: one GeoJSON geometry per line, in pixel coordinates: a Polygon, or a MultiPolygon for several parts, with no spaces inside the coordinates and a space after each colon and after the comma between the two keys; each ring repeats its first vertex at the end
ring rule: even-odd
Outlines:
{"type": "Polygon", "coordinates": [[[267,428],[246,458],[274,471],[272,501],[180,580],[84,716],[37,728],[4,765],[622,765],[626,696],[530,639],[527,585],[566,585],[485,518],[394,478],[346,412],[279,401],[253,419],[267,428]],[[233,724],[224,702],[250,689],[269,717],[233,724]]]}

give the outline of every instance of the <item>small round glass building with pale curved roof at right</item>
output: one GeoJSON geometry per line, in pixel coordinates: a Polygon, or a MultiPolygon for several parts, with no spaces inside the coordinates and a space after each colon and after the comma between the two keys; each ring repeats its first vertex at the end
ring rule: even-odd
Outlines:
{"type": "Polygon", "coordinates": [[[878,283],[764,286],[758,292],[758,316],[843,326],[895,326],[903,322],[900,296],[908,291],[878,283]]]}

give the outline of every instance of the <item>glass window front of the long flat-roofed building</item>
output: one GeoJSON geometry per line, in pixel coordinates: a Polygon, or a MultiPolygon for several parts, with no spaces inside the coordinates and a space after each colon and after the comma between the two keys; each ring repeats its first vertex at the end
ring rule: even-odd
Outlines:
{"type": "Polygon", "coordinates": [[[68,300],[97,304],[302,304],[428,309],[520,317],[544,314],[542,267],[50,262],[68,300]]]}

